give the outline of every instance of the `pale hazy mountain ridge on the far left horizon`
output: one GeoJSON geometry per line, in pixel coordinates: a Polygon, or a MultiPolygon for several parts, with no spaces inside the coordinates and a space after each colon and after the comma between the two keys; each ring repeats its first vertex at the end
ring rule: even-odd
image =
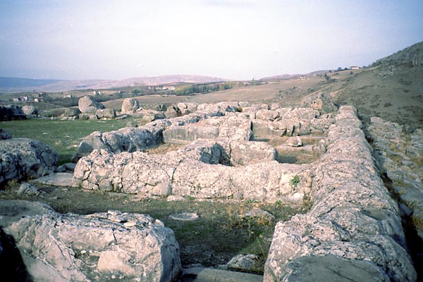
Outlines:
{"type": "Polygon", "coordinates": [[[137,85],[161,85],[175,82],[206,83],[228,81],[202,75],[161,75],[124,80],[36,80],[30,78],[0,78],[0,92],[62,92],[83,89],[110,89],[137,85]]]}

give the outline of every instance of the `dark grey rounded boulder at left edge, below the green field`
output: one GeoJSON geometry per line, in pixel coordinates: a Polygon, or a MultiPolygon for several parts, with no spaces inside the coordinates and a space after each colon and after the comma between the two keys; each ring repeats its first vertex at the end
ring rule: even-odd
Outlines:
{"type": "Polygon", "coordinates": [[[57,159],[56,152],[41,142],[26,138],[0,140],[0,183],[52,173],[57,159]]]}

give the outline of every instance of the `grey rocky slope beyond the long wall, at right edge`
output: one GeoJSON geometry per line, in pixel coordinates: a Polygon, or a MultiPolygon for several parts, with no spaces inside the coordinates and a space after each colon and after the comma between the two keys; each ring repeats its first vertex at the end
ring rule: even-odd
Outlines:
{"type": "Polygon", "coordinates": [[[405,131],[398,123],[372,117],[367,138],[379,171],[398,197],[405,226],[411,229],[408,233],[415,234],[410,249],[419,265],[423,262],[423,130],[405,131]]]}

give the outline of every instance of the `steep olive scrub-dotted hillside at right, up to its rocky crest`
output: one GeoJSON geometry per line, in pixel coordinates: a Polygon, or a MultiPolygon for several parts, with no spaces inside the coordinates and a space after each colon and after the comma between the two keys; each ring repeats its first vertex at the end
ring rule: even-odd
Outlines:
{"type": "Polygon", "coordinates": [[[423,42],[376,61],[369,68],[327,73],[314,87],[364,116],[423,128],[423,42]]]}

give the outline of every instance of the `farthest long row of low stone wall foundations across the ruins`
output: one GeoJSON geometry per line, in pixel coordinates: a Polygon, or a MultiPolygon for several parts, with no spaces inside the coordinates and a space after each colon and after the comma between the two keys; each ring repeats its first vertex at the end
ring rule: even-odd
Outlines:
{"type": "Polygon", "coordinates": [[[200,104],[197,111],[186,116],[152,121],[140,128],[94,132],[82,140],[73,161],[77,162],[94,149],[106,149],[111,153],[136,152],[161,143],[188,144],[199,138],[253,140],[254,137],[326,134],[333,123],[331,114],[320,116],[319,111],[311,108],[269,110],[253,105],[239,112],[240,104],[243,103],[200,104]]]}

